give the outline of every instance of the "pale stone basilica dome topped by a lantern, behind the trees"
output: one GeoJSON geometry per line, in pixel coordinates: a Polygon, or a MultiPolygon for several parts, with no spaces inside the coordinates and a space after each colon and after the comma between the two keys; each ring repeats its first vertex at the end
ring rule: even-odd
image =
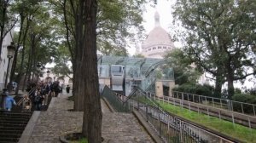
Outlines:
{"type": "Polygon", "coordinates": [[[154,14],[154,29],[142,44],[142,53],[146,58],[162,59],[167,51],[174,49],[170,35],[160,26],[160,15],[154,14]]]}

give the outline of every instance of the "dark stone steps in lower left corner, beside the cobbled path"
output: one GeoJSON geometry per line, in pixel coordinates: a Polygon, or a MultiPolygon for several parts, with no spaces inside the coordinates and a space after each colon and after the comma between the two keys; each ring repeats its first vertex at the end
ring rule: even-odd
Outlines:
{"type": "Polygon", "coordinates": [[[18,142],[32,112],[0,112],[0,143],[18,142]]]}

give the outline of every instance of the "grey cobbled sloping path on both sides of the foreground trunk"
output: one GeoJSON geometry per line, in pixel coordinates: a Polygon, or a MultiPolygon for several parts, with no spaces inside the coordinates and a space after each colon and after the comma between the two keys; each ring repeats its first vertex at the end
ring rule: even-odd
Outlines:
{"type": "MultiPolygon", "coordinates": [[[[58,143],[62,134],[81,132],[83,112],[67,112],[73,109],[73,101],[67,95],[53,98],[48,111],[40,112],[35,121],[29,143],[58,143]]],[[[143,127],[132,114],[110,112],[102,101],[102,136],[108,143],[150,143],[143,127]]]]}

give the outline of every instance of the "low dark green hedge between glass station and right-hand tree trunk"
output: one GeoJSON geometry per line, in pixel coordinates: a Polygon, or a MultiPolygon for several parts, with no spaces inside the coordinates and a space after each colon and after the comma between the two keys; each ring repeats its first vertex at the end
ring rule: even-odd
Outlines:
{"type": "Polygon", "coordinates": [[[200,94],[204,96],[214,97],[213,94],[214,88],[210,85],[201,85],[201,84],[193,84],[193,83],[184,83],[176,88],[173,91],[179,91],[189,94],[200,94]]]}

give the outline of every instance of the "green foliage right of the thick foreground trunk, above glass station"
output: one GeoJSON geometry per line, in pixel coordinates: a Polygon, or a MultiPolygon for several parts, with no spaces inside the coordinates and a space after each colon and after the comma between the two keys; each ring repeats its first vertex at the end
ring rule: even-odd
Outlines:
{"type": "Polygon", "coordinates": [[[145,0],[99,1],[97,13],[97,49],[99,51],[103,54],[119,54],[116,51],[127,54],[126,41],[137,43],[142,36],[145,2],[145,0]]]}

